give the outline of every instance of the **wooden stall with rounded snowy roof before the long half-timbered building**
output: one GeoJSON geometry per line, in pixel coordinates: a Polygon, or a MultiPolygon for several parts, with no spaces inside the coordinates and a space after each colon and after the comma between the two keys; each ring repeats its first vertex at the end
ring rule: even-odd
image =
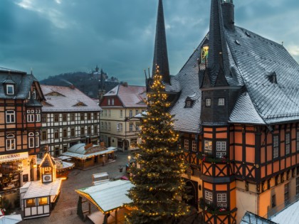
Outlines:
{"type": "Polygon", "coordinates": [[[75,144],[65,151],[62,155],[71,157],[78,169],[85,169],[97,164],[105,165],[109,161],[115,160],[114,147],[79,143],[75,144]]]}

